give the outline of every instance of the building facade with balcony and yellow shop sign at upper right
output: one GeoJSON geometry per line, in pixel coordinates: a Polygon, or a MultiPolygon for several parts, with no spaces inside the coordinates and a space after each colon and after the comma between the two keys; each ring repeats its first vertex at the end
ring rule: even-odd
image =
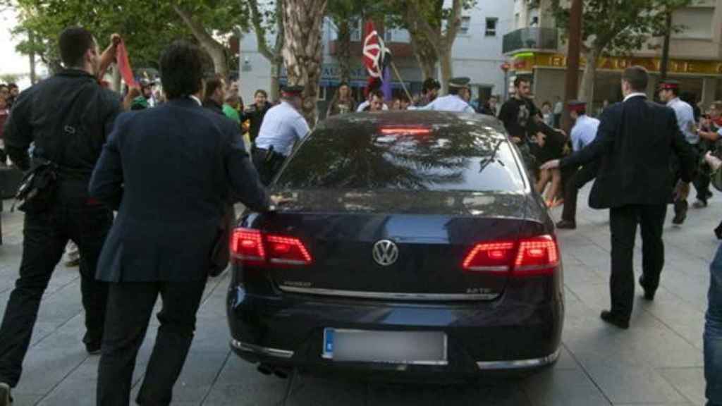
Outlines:
{"type": "MultiPolygon", "coordinates": [[[[562,42],[549,12],[550,1],[513,1],[515,29],[505,35],[503,43],[511,66],[508,85],[517,76],[530,77],[539,103],[563,98],[567,44],[562,42]]],[[[691,93],[703,106],[722,99],[722,0],[697,0],[692,6],[675,11],[672,23],[684,26],[684,30],[671,35],[668,78],[681,82],[682,92],[691,93]]],[[[645,66],[651,73],[648,94],[652,96],[659,79],[663,41],[664,38],[649,38],[631,56],[600,58],[594,105],[622,99],[621,73],[632,65],[645,66]]],[[[582,56],[582,69],[584,64],[582,56]]]]}

